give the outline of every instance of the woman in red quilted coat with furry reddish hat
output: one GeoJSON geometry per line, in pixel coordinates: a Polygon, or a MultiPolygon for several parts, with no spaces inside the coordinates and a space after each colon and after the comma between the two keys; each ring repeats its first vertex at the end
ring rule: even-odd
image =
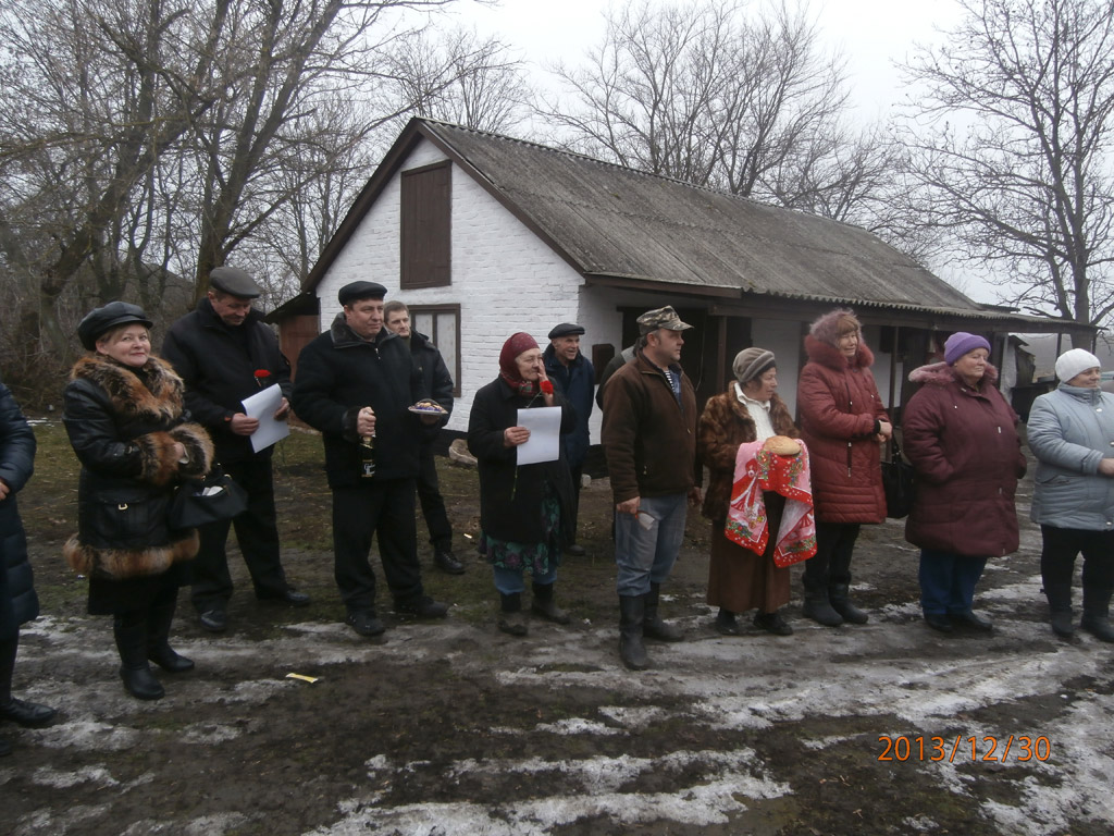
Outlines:
{"type": "Polygon", "coordinates": [[[863,523],[886,519],[879,444],[892,427],[870,372],[874,354],[851,311],[813,322],[804,350],[797,405],[812,464],[817,555],[804,564],[802,612],[824,626],[866,624],[849,597],[851,553],[863,523]]]}

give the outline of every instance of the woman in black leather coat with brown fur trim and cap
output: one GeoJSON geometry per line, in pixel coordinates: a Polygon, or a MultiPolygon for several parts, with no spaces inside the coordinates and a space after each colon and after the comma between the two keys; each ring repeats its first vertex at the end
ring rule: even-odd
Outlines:
{"type": "Polygon", "coordinates": [[[193,668],[167,636],[197,532],[172,531],[167,513],[183,475],[208,472],[213,445],[187,422],[182,380],[150,354],[150,320],[110,302],[78,325],[89,354],[66,387],[66,431],[81,460],[78,532],[65,546],[89,577],[89,612],[115,616],[125,689],[158,699],[148,659],[169,672],[193,668]]]}

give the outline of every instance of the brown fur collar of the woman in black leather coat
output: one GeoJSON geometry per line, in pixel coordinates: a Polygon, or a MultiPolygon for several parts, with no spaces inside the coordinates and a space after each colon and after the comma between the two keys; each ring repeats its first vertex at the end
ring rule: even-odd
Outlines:
{"type": "Polygon", "coordinates": [[[185,386],[174,369],[157,357],[138,369],[104,354],[87,354],[74,363],[70,380],[88,380],[104,389],[119,415],[158,424],[182,417],[185,386]]]}

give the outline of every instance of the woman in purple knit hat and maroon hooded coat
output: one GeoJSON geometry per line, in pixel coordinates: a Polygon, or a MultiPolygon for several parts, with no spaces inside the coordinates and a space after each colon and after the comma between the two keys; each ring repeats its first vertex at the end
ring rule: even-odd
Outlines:
{"type": "Polygon", "coordinates": [[[917,470],[906,539],[920,546],[920,603],[934,630],[984,632],[971,612],[987,557],[1018,545],[1014,494],[1025,475],[1017,415],[994,387],[990,343],[964,331],[944,343],[944,362],[921,366],[924,383],[905,408],[905,453],[917,470]]]}

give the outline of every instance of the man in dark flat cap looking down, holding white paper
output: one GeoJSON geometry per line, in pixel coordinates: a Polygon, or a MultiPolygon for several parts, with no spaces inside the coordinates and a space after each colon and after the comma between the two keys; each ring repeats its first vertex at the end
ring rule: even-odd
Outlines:
{"type": "Polygon", "coordinates": [[[163,341],[163,359],[185,382],[186,408],[212,436],[217,460],[247,492],[247,511],[234,521],[217,521],[198,529],[201,551],[193,565],[190,599],[202,626],[219,633],[228,626],[232,597],[225,552],[229,525],[236,528],[256,597],[304,606],[310,596],[286,582],[275,519],[274,448],[252,449],[251,435],[260,422],[244,412],[242,404],[277,383],[283,399],[275,418],[285,418],[290,411],[290,362],[263,314],[252,309],[261,290],[251,275],[236,268],[215,268],[209,286],[197,308],[170,327],[163,341]]]}

